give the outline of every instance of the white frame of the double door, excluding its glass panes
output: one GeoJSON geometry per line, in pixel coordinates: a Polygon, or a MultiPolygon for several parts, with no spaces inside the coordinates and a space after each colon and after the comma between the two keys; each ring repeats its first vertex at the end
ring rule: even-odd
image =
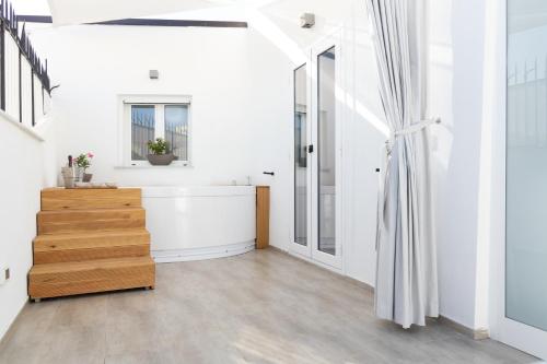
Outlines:
{"type": "MultiPolygon", "coordinates": [[[[344,178],[341,173],[342,160],[341,160],[341,149],[342,149],[342,126],[344,126],[344,77],[342,77],[342,28],[337,27],[319,40],[313,43],[311,46],[305,48],[304,50],[306,55],[306,62],[304,63],[306,67],[307,74],[307,89],[306,89],[306,101],[307,101],[307,144],[314,145],[314,152],[307,154],[307,246],[302,246],[295,243],[295,231],[294,231],[294,218],[295,218],[295,191],[294,191],[294,181],[293,178],[293,209],[292,209],[292,219],[293,222],[291,224],[291,242],[289,245],[289,253],[298,256],[304,260],[314,262],[324,268],[344,272],[344,232],[342,232],[342,193],[344,193],[344,178]],[[336,95],[336,256],[331,256],[329,254],[323,253],[318,250],[318,210],[317,210],[317,196],[318,196],[318,186],[317,186],[317,56],[323,54],[335,46],[336,48],[336,81],[337,86],[335,90],[336,95]]],[[[294,105],[294,71],[300,69],[301,64],[295,67],[292,74],[293,82],[293,94],[292,94],[292,104],[294,105]]],[[[294,106],[293,106],[294,107],[294,106]]],[[[294,109],[293,109],[294,115],[294,109]]],[[[293,140],[294,139],[294,127],[293,129],[293,140]]],[[[293,148],[294,150],[294,148],[293,148]]],[[[292,154],[292,163],[294,163],[294,155],[292,154]]],[[[294,174],[294,168],[293,168],[294,174]]],[[[293,177],[295,177],[293,175],[293,177]]]]}

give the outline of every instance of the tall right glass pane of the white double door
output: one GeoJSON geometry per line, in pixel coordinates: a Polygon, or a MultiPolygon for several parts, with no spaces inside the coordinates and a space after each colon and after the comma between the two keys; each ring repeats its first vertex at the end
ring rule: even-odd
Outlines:
{"type": "Polygon", "coordinates": [[[317,57],[319,250],[336,255],[335,47],[317,57]]]}

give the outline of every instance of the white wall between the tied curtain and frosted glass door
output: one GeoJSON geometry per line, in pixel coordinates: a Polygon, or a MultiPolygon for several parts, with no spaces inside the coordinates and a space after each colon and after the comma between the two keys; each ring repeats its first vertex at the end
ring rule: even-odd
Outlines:
{"type": "Polygon", "coordinates": [[[428,2],[428,106],[442,118],[433,131],[441,314],[489,329],[491,216],[500,209],[491,198],[502,185],[492,178],[500,168],[492,132],[504,122],[494,99],[504,85],[493,75],[504,62],[503,22],[494,0],[428,2]]]}

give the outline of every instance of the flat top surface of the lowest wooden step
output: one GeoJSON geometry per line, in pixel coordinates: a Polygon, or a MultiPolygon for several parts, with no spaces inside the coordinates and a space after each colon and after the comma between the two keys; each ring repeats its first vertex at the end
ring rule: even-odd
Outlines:
{"type": "Polygon", "coordinates": [[[31,268],[31,279],[39,274],[56,274],[67,272],[78,272],[96,269],[117,269],[128,267],[140,267],[155,265],[151,257],[132,257],[132,258],[110,258],[95,259],[88,261],[67,261],[60,263],[36,265],[31,268]]]}

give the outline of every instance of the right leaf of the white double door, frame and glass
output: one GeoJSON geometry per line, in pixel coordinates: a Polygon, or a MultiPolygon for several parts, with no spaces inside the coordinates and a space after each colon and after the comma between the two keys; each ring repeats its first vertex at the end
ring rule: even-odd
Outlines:
{"type": "Polygon", "coordinates": [[[330,36],[312,48],[312,258],[341,268],[340,45],[330,36]]]}

